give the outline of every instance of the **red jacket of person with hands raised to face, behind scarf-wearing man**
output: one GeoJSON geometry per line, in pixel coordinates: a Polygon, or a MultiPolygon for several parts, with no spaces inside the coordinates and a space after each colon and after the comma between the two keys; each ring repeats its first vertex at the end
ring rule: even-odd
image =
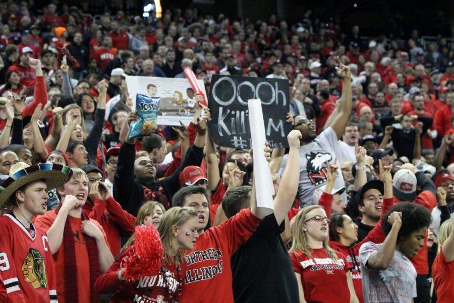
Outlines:
{"type": "Polygon", "coordinates": [[[82,209],[90,219],[98,221],[104,228],[110,252],[117,256],[121,249],[120,236],[130,237],[133,234],[136,217],[124,211],[111,196],[106,201],[97,199],[93,203],[87,200],[82,209]]]}

